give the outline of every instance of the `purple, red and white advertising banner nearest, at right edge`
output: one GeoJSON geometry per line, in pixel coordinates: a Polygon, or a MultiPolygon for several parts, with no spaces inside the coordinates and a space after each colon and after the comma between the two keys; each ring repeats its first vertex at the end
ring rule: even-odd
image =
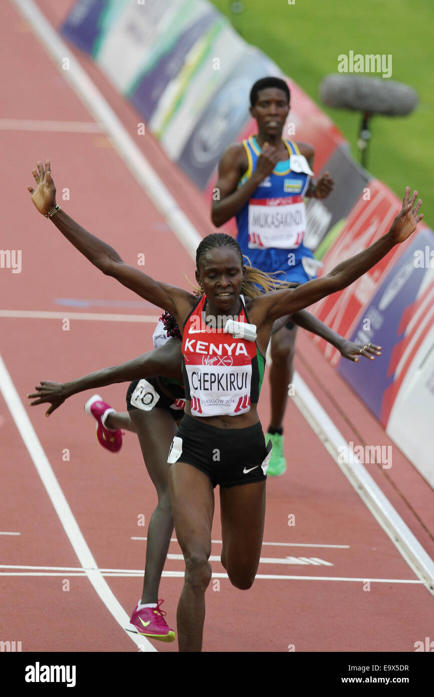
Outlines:
{"type": "Polygon", "coordinates": [[[434,233],[403,247],[350,337],[381,346],[381,358],[341,361],[338,372],[434,487],[434,233]]]}

